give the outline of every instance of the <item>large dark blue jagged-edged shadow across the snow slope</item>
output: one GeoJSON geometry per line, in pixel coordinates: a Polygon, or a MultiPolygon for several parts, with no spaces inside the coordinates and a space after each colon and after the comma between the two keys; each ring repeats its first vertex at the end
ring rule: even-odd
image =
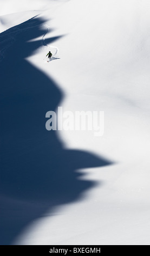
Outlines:
{"type": "Polygon", "coordinates": [[[0,34],[2,48],[13,42],[0,63],[1,245],[13,243],[47,210],[80,199],[95,185],[80,180],[77,169],[111,164],[85,151],[64,149],[56,132],[45,129],[45,113],[55,111],[63,93],[24,59],[41,46],[41,40],[29,40],[42,38],[43,22],[36,17],[0,34]]]}

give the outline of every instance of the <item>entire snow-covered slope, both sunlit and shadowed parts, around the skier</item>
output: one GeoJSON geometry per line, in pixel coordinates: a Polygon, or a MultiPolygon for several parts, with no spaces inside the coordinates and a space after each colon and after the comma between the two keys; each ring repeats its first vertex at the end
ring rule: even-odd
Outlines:
{"type": "Polygon", "coordinates": [[[3,243],[149,244],[149,2],[5,3],[3,243]],[[58,106],[104,111],[104,135],[45,130],[58,106]]]}

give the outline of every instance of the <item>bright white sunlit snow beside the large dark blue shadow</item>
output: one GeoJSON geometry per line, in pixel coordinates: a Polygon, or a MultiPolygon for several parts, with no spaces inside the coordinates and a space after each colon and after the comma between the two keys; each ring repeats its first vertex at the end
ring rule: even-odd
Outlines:
{"type": "MultiPolygon", "coordinates": [[[[149,1],[5,0],[0,10],[0,35],[36,15],[35,19],[44,20],[43,34],[29,40],[40,40],[41,46],[25,61],[57,84],[63,94],[58,106],[73,112],[104,111],[103,136],[94,137],[91,131],[56,131],[58,141],[67,150],[88,151],[111,162],[77,169],[82,173],[79,179],[95,185],[76,200],[47,208],[27,222],[11,243],[149,245],[149,1]],[[53,37],[58,38],[47,41],[53,37]],[[47,63],[49,50],[58,59],[47,63]]],[[[13,49],[16,34],[11,38],[8,34],[1,48],[2,63],[9,47],[13,49]]],[[[8,74],[9,69],[7,62],[8,74]]],[[[42,138],[38,147],[40,142],[42,138]]],[[[16,215],[16,205],[27,203],[15,196],[2,198],[14,205],[16,215]]]]}

